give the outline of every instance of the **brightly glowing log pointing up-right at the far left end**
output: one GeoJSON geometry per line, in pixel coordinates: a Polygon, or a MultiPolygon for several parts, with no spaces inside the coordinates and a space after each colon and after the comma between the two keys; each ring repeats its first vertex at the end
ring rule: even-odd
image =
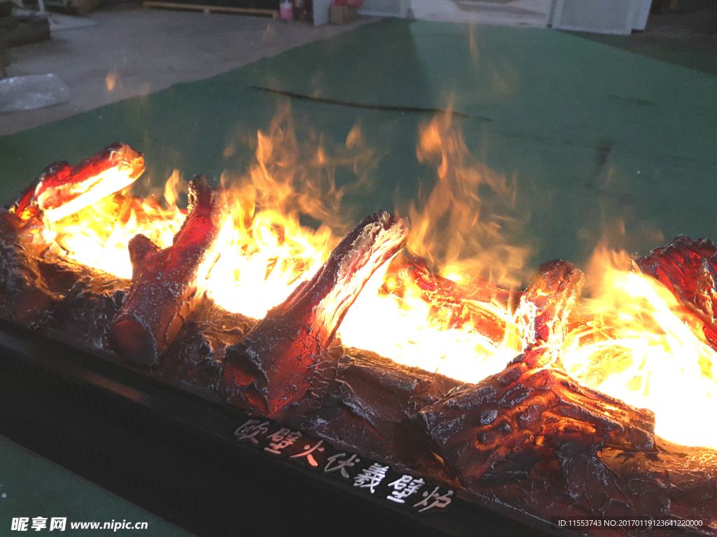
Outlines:
{"type": "Polygon", "coordinates": [[[10,211],[23,221],[44,217],[52,223],[122,190],[143,172],[142,154],[117,142],[74,168],[65,161],[49,165],[10,211]]]}

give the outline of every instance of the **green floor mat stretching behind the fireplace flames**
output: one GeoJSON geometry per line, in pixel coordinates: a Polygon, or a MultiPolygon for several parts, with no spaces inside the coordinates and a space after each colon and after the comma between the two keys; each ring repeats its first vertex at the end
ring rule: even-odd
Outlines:
{"type": "Polygon", "coordinates": [[[358,218],[432,185],[417,129],[452,104],[470,151],[517,181],[533,265],[583,263],[620,218],[625,246],[640,253],[678,233],[717,238],[717,78],[628,49],[541,29],[386,20],[1,138],[4,198],[44,165],[114,140],[145,153],[157,184],[174,168],[217,179],[251,155],[239,144],[227,157],[227,146],[266,129],[289,100],[297,125],[333,140],[361,122],[381,155],[374,190],[344,200],[358,218]]]}

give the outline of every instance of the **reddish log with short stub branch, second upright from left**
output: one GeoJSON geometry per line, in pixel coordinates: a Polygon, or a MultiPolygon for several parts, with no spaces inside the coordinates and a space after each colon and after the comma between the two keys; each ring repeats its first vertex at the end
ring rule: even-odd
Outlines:
{"type": "Polygon", "coordinates": [[[199,175],[189,184],[189,205],[172,246],[160,250],[143,235],[129,243],[132,287],[111,329],[113,345],[125,359],[158,363],[217,261],[219,233],[228,217],[224,195],[199,175]]]}

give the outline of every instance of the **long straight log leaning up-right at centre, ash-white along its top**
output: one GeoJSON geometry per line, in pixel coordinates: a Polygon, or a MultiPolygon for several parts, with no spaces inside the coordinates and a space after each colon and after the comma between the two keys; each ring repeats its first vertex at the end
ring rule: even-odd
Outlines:
{"type": "Polygon", "coordinates": [[[318,273],[227,350],[222,390],[234,405],[285,420],[374,271],[401,248],[408,222],[379,211],[353,228],[318,273]]]}

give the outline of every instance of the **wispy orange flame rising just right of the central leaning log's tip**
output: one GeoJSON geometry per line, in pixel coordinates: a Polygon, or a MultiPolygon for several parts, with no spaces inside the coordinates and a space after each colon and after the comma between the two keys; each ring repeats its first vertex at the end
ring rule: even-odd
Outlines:
{"type": "Polygon", "coordinates": [[[419,128],[416,155],[435,166],[437,183],[409,208],[409,250],[442,274],[481,274],[517,286],[528,248],[511,243],[522,228],[513,216],[516,182],[473,158],[450,113],[419,128]]]}

